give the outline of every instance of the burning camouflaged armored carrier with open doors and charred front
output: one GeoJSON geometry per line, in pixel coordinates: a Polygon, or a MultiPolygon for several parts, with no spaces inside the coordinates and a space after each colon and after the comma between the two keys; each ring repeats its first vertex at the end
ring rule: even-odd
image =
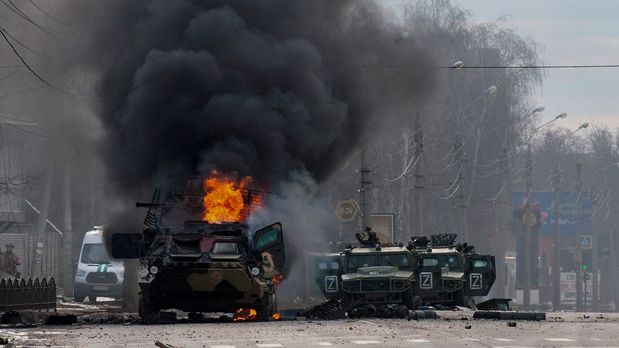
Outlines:
{"type": "MultiPolygon", "coordinates": [[[[264,193],[233,188],[245,201],[264,193]]],[[[204,195],[170,191],[159,201],[156,190],[141,234],[112,236],[114,258],[139,258],[139,315],[156,320],[159,310],[190,313],[243,313],[243,319],[267,320],[277,313],[276,282],[284,267],[282,225],[273,223],[251,234],[240,221],[185,220],[202,217],[204,195]]],[[[247,213],[247,212],[246,212],[247,213]]]]}

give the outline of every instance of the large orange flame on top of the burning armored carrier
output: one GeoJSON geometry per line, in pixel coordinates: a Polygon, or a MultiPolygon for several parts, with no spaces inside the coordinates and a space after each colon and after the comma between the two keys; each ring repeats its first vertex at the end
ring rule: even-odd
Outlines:
{"type": "Polygon", "coordinates": [[[250,182],[252,182],[250,176],[237,182],[219,171],[211,171],[211,176],[204,180],[205,195],[202,198],[204,216],[202,220],[212,223],[243,220],[245,203],[243,203],[241,191],[234,187],[243,189],[250,182]]]}

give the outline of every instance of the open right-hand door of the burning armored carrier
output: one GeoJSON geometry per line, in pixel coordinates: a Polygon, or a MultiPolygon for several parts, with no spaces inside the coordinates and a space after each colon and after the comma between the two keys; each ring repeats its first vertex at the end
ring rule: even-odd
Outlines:
{"type": "Polygon", "coordinates": [[[284,253],[284,235],[281,223],[273,223],[257,230],[252,240],[252,247],[262,258],[262,270],[265,278],[282,273],[286,255],[284,253]]]}

